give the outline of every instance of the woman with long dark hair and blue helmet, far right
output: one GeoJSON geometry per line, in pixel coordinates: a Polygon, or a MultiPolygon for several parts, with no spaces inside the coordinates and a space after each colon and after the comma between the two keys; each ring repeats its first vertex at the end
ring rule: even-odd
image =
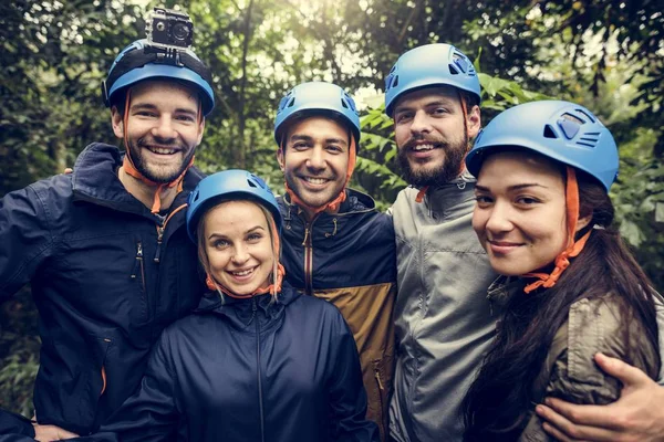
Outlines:
{"type": "Polygon", "coordinates": [[[466,441],[547,441],[535,406],[616,400],[593,361],[660,371],[655,297],[613,224],[618,149],[599,119],[546,101],[499,114],[466,159],[478,178],[473,227],[501,274],[496,340],[464,402],[466,441]]]}

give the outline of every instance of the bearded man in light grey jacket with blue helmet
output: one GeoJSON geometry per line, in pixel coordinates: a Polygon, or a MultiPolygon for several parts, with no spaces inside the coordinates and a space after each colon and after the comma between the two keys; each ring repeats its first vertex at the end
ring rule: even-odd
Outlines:
{"type": "Polygon", "coordinates": [[[496,275],[473,231],[476,180],[464,166],[480,128],[479,80],[459,50],[428,44],[403,54],[385,83],[385,112],[411,185],[392,208],[398,296],[391,436],[460,441],[460,403],[500,314],[486,298],[496,275]]]}

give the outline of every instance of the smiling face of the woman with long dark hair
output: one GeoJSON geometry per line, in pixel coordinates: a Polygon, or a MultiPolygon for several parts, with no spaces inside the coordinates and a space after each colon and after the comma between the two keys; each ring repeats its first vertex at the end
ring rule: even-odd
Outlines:
{"type": "Polygon", "coordinates": [[[483,164],[475,193],[473,228],[496,272],[512,276],[542,269],[567,246],[566,187],[551,160],[523,151],[494,154],[483,164]]]}

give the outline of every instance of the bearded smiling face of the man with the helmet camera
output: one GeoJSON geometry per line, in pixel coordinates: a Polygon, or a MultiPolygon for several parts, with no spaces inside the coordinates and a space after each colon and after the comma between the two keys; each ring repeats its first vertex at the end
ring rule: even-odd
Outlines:
{"type": "MultiPolygon", "coordinates": [[[[120,138],[123,117],[112,110],[120,138]]],[[[174,181],[187,168],[203,137],[198,96],[193,88],[165,81],[144,81],[131,90],[127,145],[136,169],[154,182],[174,181]]]]}

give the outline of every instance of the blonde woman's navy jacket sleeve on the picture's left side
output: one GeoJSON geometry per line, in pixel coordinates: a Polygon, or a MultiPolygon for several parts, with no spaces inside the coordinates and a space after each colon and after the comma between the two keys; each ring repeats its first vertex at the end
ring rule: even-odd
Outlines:
{"type": "Polygon", "coordinates": [[[75,441],[167,441],[177,431],[176,379],[165,330],[151,355],[139,389],[105,422],[100,432],[75,441]]]}

